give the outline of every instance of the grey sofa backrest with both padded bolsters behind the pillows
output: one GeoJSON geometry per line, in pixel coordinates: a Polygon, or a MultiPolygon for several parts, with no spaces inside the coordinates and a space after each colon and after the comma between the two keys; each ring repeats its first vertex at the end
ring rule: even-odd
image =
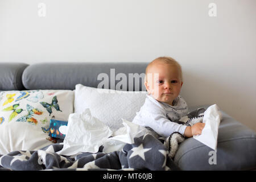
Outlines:
{"type": "Polygon", "coordinates": [[[143,78],[147,64],[127,62],[0,64],[0,71],[5,71],[4,74],[0,72],[0,90],[73,90],[76,84],[97,88],[103,82],[108,84],[103,84],[101,88],[120,90],[119,86],[115,86],[126,82],[127,88],[121,87],[121,90],[145,91],[143,78]],[[13,77],[16,78],[15,82],[13,77]],[[138,77],[139,84],[137,84],[138,77]]]}

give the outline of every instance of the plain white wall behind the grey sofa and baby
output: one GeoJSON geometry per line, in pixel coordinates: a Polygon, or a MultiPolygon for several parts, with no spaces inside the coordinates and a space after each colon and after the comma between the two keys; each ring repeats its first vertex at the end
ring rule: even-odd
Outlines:
{"type": "Polygon", "coordinates": [[[216,103],[256,131],[255,7],[255,0],[0,0],[0,61],[172,56],[183,66],[189,105],[216,103]]]}

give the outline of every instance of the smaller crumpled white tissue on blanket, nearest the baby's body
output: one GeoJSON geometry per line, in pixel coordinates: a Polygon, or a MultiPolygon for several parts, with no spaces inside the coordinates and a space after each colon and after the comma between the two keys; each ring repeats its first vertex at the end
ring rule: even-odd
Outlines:
{"type": "Polygon", "coordinates": [[[104,140],[102,152],[121,151],[125,144],[133,144],[135,137],[141,137],[147,132],[144,127],[123,118],[122,124],[123,127],[113,132],[113,137],[104,140]]]}

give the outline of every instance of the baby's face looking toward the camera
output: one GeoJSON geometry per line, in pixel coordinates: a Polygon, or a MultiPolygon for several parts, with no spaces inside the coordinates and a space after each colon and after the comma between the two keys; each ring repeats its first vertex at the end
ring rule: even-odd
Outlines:
{"type": "Polygon", "coordinates": [[[179,69],[174,65],[158,63],[152,65],[147,72],[147,92],[160,102],[172,105],[182,85],[179,69]]]}

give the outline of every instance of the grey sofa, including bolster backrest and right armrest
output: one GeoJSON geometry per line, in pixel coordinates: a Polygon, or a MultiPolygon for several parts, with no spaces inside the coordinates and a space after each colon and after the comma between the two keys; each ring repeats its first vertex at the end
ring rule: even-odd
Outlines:
{"type": "MultiPolygon", "coordinates": [[[[1,90],[75,89],[97,87],[99,73],[144,73],[147,63],[0,63],[1,90]]],[[[117,82],[117,81],[116,81],[117,82]]],[[[116,84],[116,83],[115,83],[116,84]]],[[[141,85],[141,84],[140,84],[141,85]]],[[[133,87],[134,88],[134,87],[133,87]]],[[[140,87],[140,90],[144,88],[140,87]]],[[[127,86],[129,90],[129,85],[127,86]]],[[[207,109],[208,105],[191,106],[207,109]]],[[[174,162],[182,170],[255,170],[256,133],[223,111],[218,131],[216,164],[209,164],[211,148],[193,138],[180,144],[174,162]]]]}

